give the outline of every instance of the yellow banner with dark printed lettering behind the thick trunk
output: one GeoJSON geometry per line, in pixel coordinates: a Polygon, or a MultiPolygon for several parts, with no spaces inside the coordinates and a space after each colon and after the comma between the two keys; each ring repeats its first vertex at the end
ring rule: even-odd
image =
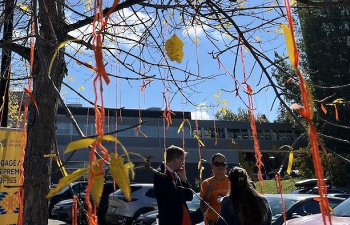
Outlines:
{"type": "Polygon", "coordinates": [[[3,225],[17,224],[21,139],[21,129],[0,128],[0,223],[3,225]]]}

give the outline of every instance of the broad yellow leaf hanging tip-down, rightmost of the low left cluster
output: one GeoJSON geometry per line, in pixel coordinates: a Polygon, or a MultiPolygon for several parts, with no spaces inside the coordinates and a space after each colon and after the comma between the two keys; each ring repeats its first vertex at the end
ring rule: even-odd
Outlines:
{"type": "Polygon", "coordinates": [[[117,157],[110,160],[109,172],[115,183],[124,193],[126,199],[131,200],[129,173],[127,171],[127,166],[124,165],[124,159],[117,157]]]}

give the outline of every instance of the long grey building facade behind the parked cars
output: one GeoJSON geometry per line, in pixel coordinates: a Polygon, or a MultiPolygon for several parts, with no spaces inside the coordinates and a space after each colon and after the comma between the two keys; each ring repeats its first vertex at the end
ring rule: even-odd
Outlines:
{"type": "MultiPolygon", "coordinates": [[[[69,107],[74,115],[79,127],[86,136],[94,135],[94,110],[93,108],[81,107],[75,105],[69,107]]],[[[144,156],[150,156],[151,165],[157,167],[163,161],[164,148],[174,144],[184,146],[186,152],[186,171],[189,180],[194,183],[199,178],[197,164],[199,153],[205,169],[203,178],[211,174],[210,157],[215,152],[220,152],[226,156],[230,166],[238,164],[238,151],[253,152],[253,140],[249,122],[237,121],[213,121],[213,120],[192,120],[190,112],[175,111],[172,115],[172,124],[167,127],[167,121],[163,118],[163,111],[160,108],[149,109],[105,109],[105,126],[104,132],[120,130],[137,124],[140,118],[144,122],[140,130],[127,129],[117,132],[116,136],[129,152],[135,152],[144,156]],[[187,119],[193,129],[187,122],[184,123],[184,133],[177,133],[181,122],[187,119]],[[197,126],[195,125],[197,122],[197,126]],[[198,127],[198,131],[196,131],[198,127]],[[214,131],[216,128],[216,132],[214,131]],[[198,147],[198,141],[194,134],[200,138],[205,146],[198,147]],[[216,136],[216,138],[215,138],[216,136]]],[[[262,123],[256,124],[259,145],[262,152],[282,152],[277,150],[284,144],[291,145],[299,135],[298,130],[293,129],[289,124],[284,123],[262,123]]],[[[115,135],[115,134],[114,134],[115,135]]],[[[62,160],[65,160],[68,154],[64,154],[64,149],[70,141],[79,139],[79,135],[70,120],[65,116],[64,110],[58,108],[56,139],[57,147],[62,160]]],[[[301,144],[305,144],[302,143],[301,144]]],[[[121,147],[115,146],[113,142],[103,142],[103,145],[109,152],[117,150],[122,154],[121,147]]],[[[88,166],[89,149],[77,150],[69,159],[65,167],[68,173],[77,168],[88,166]]],[[[142,160],[134,155],[130,159],[137,164],[142,160]]],[[[58,177],[52,180],[57,181],[58,177]]],[[[136,182],[152,182],[152,172],[149,170],[137,170],[136,182]]]]}

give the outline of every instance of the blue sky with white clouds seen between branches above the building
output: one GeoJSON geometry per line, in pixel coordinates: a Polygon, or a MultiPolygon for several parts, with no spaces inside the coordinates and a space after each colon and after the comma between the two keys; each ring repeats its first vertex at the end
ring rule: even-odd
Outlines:
{"type": "MultiPolygon", "coordinates": [[[[246,6],[248,7],[249,5],[246,5],[246,6]]],[[[275,9],[273,10],[267,9],[267,10],[265,8],[260,10],[261,12],[264,12],[264,17],[266,19],[268,19],[268,17],[274,18],[278,16],[275,9]]],[[[176,17],[176,15],[174,17],[176,17]]],[[[262,23],[261,20],[252,19],[247,16],[234,16],[233,19],[238,25],[244,25],[250,22],[249,27],[253,27],[255,25],[258,25],[259,23],[262,23]]],[[[285,19],[281,18],[277,21],[284,22],[285,19]]],[[[257,31],[251,31],[249,33],[245,33],[245,37],[252,42],[253,46],[255,46],[260,50],[262,49],[263,51],[266,51],[265,54],[273,60],[274,50],[276,50],[280,54],[283,54],[283,53],[285,54],[284,38],[282,35],[276,32],[276,29],[278,29],[278,25],[269,26],[269,27],[266,26],[264,29],[259,29],[257,31]]],[[[187,33],[184,30],[176,30],[176,31],[168,30],[167,37],[170,37],[173,33],[176,33],[185,43],[183,48],[184,57],[180,64],[170,60],[168,60],[168,63],[170,65],[180,66],[182,68],[186,67],[191,72],[197,73],[196,45],[189,38],[189,37],[191,37],[192,39],[194,38],[193,28],[190,27],[187,33]]],[[[211,55],[208,53],[215,50],[214,46],[207,40],[204,33],[201,32],[199,28],[197,28],[197,34],[199,39],[198,63],[199,63],[200,75],[224,73],[222,66],[220,69],[218,69],[217,60],[213,59],[211,55]]],[[[215,33],[213,35],[215,35],[215,33]]],[[[227,36],[223,36],[219,38],[216,44],[222,47],[224,41],[233,41],[233,39],[230,39],[227,36]]],[[[234,40],[232,43],[236,44],[237,41],[234,40]]],[[[115,43],[112,43],[112,44],[115,45],[115,43]]],[[[123,44],[120,44],[119,47],[125,50],[128,49],[128,46],[123,44]]],[[[90,51],[84,51],[84,53],[91,54],[90,51]]],[[[268,83],[268,80],[263,75],[260,81],[260,84],[256,86],[260,78],[261,69],[258,67],[257,64],[254,65],[255,60],[253,59],[250,52],[246,51],[243,48],[243,53],[244,53],[244,62],[246,67],[245,68],[246,75],[248,76],[251,72],[247,82],[253,88],[253,90],[256,91],[260,89],[262,86],[266,85],[268,83]]],[[[94,59],[92,55],[91,56],[81,55],[77,57],[79,57],[80,60],[83,60],[86,62],[91,61],[92,65],[94,65],[94,59]]],[[[123,57],[123,53],[121,53],[120,55],[120,58],[122,57],[123,57]]],[[[161,55],[159,54],[157,55],[157,57],[161,58],[161,55]]],[[[220,60],[225,65],[225,67],[228,70],[230,70],[230,72],[232,72],[234,55],[231,52],[224,53],[220,56],[220,60]]],[[[268,65],[267,62],[265,61],[263,62],[266,66],[268,65]]],[[[136,64],[137,62],[134,62],[134,65],[137,67],[136,64]]],[[[240,82],[243,82],[243,75],[242,75],[242,69],[240,64],[241,64],[240,57],[238,57],[236,76],[240,82]]],[[[117,73],[120,75],[137,77],[137,75],[131,74],[126,69],[121,68],[120,70],[118,70],[115,68],[115,66],[118,66],[118,65],[113,64],[111,60],[107,64],[106,69],[108,72],[112,74],[117,73]]],[[[270,68],[268,69],[268,71],[270,71],[270,68]]],[[[160,71],[160,72],[163,73],[165,71],[160,71]]],[[[92,79],[89,79],[91,76],[94,75],[93,72],[90,71],[89,69],[84,68],[83,66],[77,65],[74,61],[70,61],[68,66],[68,74],[69,76],[66,77],[65,81],[68,82],[73,88],[78,90],[81,94],[83,94],[90,100],[93,100],[94,95],[93,95],[93,89],[92,89],[92,83],[91,83],[92,79]],[[80,86],[83,86],[84,89],[82,89],[80,86]]],[[[159,71],[157,69],[153,69],[149,71],[149,73],[147,74],[156,74],[157,76],[159,76],[159,71]]],[[[176,79],[177,78],[180,79],[183,77],[183,74],[174,73],[174,76],[176,79]]],[[[164,109],[163,97],[161,94],[161,92],[164,90],[164,86],[162,82],[159,80],[154,80],[150,83],[150,86],[147,86],[145,88],[145,91],[142,91],[142,92],[140,92],[140,85],[142,85],[141,81],[127,82],[126,80],[120,81],[120,80],[116,80],[116,78],[114,77],[111,77],[110,84],[104,85],[105,106],[110,108],[115,108],[120,106],[125,108],[162,107],[162,109],[164,109]]],[[[203,83],[196,84],[195,86],[193,86],[193,88],[196,91],[198,91],[198,93],[190,94],[188,96],[190,100],[192,102],[195,102],[196,104],[210,105],[210,104],[214,104],[216,101],[215,98],[212,96],[212,94],[216,94],[220,89],[232,90],[234,88],[234,82],[229,75],[224,74],[224,75],[215,77],[214,79],[206,80],[203,83]]],[[[80,103],[83,104],[83,106],[88,106],[88,103],[83,99],[77,100],[76,98],[79,98],[79,97],[75,93],[73,93],[71,90],[67,89],[66,87],[62,87],[61,93],[67,99],[68,103],[69,102],[75,103],[76,101],[79,101],[80,103]]],[[[247,103],[247,95],[243,91],[240,91],[239,93],[242,99],[247,103]]],[[[254,104],[254,108],[256,108],[255,114],[256,113],[266,114],[269,120],[273,121],[273,119],[275,119],[276,117],[276,108],[278,106],[278,102],[275,102],[272,110],[270,111],[274,97],[275,97],[275,94],[271,89],[271,87],[264,89],[258,94],[254,95],[253,104],[254,104]]],[[[236,111],[238,107],[245,108],[244,103],[238,97],[235,96],[235,93],[228,93],[225,91],[221,91],[220,100],[224,100],[224,99],[229,101],[229,105],[227,107],[230,108],[232,111],[236,111]]],[[[201,113],[199,113],[200,111],[199,108],[193,106],[188,102],[184,104],[181,104],[181,102],[185,102],[185,100],[184,99],[181,100],[181,95],[176,94],[176,96],[171,102],[170,109],[173,111],[181,111],[183,107],[183,110],[185,111],[192,111],[192,112],[197,111],[198,119],[201,119],[201,118],[211,119],[213,117],[213,112],[217,111],[218,109],[218,107],[214,109],[207,108],[206,110],[201,110],[201,113]]]]}

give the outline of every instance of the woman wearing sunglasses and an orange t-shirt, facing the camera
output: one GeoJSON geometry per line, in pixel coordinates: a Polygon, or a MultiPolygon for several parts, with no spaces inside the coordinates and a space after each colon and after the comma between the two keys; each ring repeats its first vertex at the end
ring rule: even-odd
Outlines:
{"type": "MultiPolygon", "coordinates": [[[[200,197],[203,198],[216,212],[220,212],[220,198],[229,193],[229,179],[226,175],[226,158],[221,153],[215,153],[211,157],[211,169],[213,176],[201,183],[200,197]]],[[[200,210],[204,216],[205,225],[214,225],[218,221],[217,214],[205,203],[200,202],[200,210]]]]}

